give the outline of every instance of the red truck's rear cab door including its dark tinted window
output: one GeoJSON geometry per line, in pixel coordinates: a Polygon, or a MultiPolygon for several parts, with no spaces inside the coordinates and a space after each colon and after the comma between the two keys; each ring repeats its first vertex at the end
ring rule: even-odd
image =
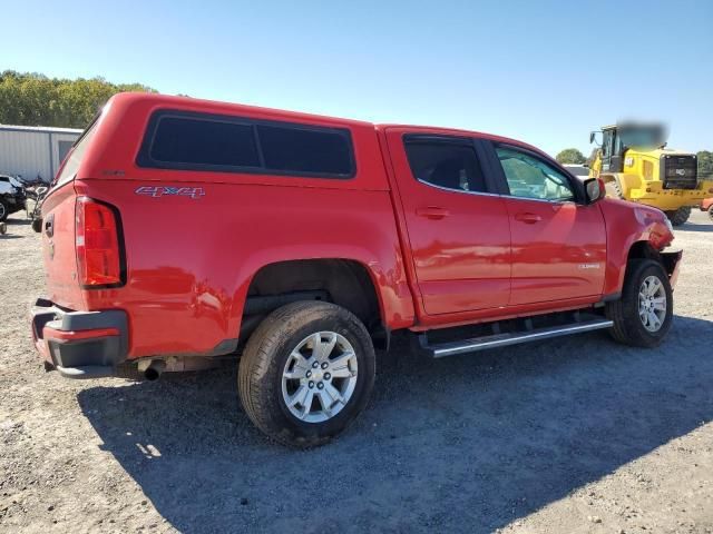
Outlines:
{"type": "Polygon", "coordinates": [[[506,306],[510,229],[472,137],[388,128],[413,267],[428,315],[506,306]]]}

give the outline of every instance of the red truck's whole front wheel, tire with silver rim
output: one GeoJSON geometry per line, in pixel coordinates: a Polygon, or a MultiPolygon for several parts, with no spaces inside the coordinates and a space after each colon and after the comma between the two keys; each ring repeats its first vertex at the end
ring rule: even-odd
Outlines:
{"type": "Polygon", "coordinates": [[[673,293],[662,265],[652,259],[632,260],[626,269],[622,298],[607,304],[614,322],[614,339],[637,347],[655,347],[673,319],[673,293]]]}

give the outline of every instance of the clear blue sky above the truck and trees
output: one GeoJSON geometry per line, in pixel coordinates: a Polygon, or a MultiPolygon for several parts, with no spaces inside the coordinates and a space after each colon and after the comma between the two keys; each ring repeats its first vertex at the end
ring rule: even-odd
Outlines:
{"type": "Polygon", "coordinates": [[[577,147],[617,119],[713,149],[711,1],[2,2],[0,70],[577,147]],[[603,24],[597,27],[596,24],[603,24]]]}

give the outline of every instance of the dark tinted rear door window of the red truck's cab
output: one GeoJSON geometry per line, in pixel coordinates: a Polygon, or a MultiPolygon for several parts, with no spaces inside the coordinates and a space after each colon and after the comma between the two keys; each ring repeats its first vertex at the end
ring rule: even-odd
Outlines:
{"type": "Polygon", "coordinates": [[[404,148],[417,180],[455,191],[487,192],[472,141],[407,137],[404,148]]]}

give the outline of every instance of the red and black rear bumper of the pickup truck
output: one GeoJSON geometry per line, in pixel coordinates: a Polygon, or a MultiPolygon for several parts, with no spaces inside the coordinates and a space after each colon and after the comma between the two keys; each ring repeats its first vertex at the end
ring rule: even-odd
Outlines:
{"type": "Polygon", "coordinates": [[[126,359],[128,323],[120,309],[71,312],[39,298],[30,318],[35,347],[67,378],[113,376],[126,359]]]}

